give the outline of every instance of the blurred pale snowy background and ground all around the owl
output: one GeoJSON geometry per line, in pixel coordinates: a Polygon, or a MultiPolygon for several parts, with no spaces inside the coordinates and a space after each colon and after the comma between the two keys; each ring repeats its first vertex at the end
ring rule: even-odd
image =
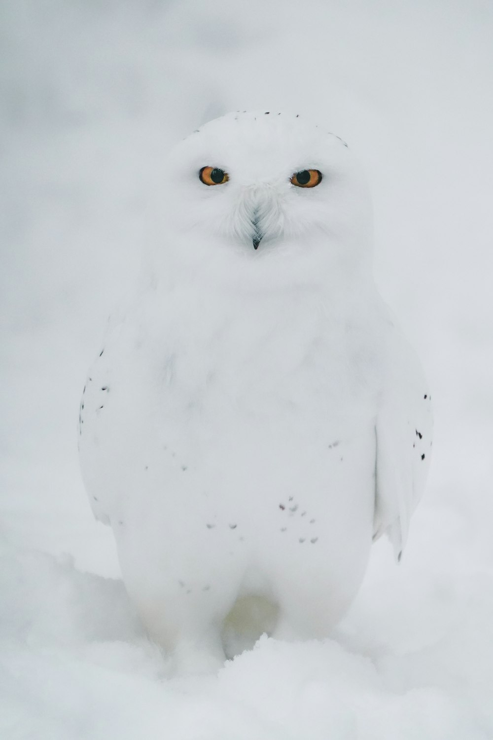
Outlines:
{"type": "Polygon", "coordinates": [[[493,736],[492,9],[474,0],[6,1],[1,9],[0,736],[493,736]],[[401,565],[330,639],[170,678],[89,511],[74,419],[154,240],[160,161],[226,110],[323,119],[364,162],[375,277],[435,407],[401,565]]]}

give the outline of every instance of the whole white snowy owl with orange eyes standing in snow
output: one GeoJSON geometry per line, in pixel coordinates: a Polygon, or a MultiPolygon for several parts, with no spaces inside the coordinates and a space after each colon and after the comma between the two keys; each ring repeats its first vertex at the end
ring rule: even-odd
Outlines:
{"type": "Polygon", "coordinates": [[[89,371],[79,447],[143,624],[188,665],[327,636],[372,541],[400,557],[431,399],[376,291],[344,141],[232,113],[160,170],[163,226],[89,371]]]}

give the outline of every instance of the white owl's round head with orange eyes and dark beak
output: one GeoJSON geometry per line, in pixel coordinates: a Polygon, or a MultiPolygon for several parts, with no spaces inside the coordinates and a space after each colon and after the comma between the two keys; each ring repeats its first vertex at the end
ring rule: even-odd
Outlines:
{"type": "Polygon", "coordinates": [[[171,251],[188,266],[226,268],[231,280],[367,272],[371,209],[360,169],[344,141],[297,115],[210,121],[174,148],[164,174],[171,251]]]}

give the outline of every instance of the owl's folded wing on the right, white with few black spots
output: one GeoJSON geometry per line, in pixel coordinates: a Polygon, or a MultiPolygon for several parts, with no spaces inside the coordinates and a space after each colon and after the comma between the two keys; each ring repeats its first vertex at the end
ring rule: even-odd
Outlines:
{"type": "Polygon", "coordinates": [[[392,324],[378,409],[373,539],[387,532],[400,559],[424,491],[432,447],[429,387],[417,355],[392,324]]]}

